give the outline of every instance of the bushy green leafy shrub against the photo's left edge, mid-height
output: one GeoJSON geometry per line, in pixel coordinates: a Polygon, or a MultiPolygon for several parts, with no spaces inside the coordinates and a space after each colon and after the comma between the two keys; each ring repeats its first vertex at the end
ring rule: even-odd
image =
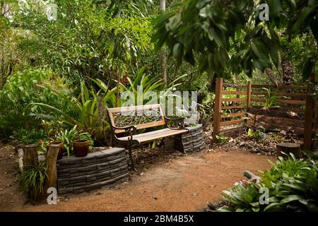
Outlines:
{"type": "Polygon", "coordinates": [[[32,102],[43,102],[55,107],[64,105],[51,90],[40,88],[52,85],[60,92],[66,92],[63,80],[54,77],[50,71],[25,70],[8,77],[0,90],[0,136],[8,138],[13,131],[38,129],[43,118],[58,119],[54,112],[46,112],[32,102]]]}

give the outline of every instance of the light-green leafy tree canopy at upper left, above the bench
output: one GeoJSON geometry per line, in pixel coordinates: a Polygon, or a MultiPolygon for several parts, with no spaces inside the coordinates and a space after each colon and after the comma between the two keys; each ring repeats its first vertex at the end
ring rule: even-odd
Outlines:
{"type": "Polygon", "coordinates": [[[16,16],[16,24],[33,31],[25,42],[40,44],[41,65],[75,82],[88,77],[107,80],[118,67],[128,71],[150,47],[151,25],[139,11],[114,16],[114,5],[100,1],[55,3],[57,20],[47,20],[45,12],[29,2],[23,8],[25,14],[16,16]]]}

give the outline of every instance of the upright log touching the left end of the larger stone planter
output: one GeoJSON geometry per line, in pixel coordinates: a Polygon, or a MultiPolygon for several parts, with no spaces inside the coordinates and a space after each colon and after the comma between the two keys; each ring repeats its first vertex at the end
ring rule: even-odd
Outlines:
{"type": "Polygon", "coordinates": [[[46,159],[47,182],[45,184],[45,189],[48,189],[49,187],[57,188],[57,155],[59,154],[59,148],[59,144],[49,145],[46,159]]]}

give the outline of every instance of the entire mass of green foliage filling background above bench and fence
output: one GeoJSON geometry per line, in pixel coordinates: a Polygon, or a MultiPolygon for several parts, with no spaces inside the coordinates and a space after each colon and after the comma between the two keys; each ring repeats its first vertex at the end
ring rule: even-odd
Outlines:
{"type": "MultiPolygon", "coordinates": [[[[167,13],[160,13],[158,0],[0,0],[0,138],[48,143],[41,121],[61,120],[57,132],[77,126],[104,145],[110,138],[106,107],[125,99],[151,103],[146,91],[175,88],[199,91],[201,122],[208,126],[214,74],[268,83],[264,71],[271,68],[282,81],[285,60],[295,81],[317,70],[317,1],[166,3],[167,13]],[[269,21],[258,19],[263,2],[269,21]],[[46,12],[51,3],[57,6],[53,20],[46,12]],[[160,48],[171,56],[166,84],[154,51],[160,48]]],[[[269,94],[266,107],[273,105],[269,94]]]]}

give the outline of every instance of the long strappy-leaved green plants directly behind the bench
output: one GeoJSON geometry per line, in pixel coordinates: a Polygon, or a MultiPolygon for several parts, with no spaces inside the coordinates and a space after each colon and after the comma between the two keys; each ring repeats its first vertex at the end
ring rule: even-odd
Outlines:
{"type": "MultiPolygon", "coordinates": [[[[143,67],[136,75],[136,78],[129,81],[129,88],[126,88],[123,84],[119,85],[119,94],[123,94],[125,91],[131,91],[131,100],[136,100],[136,102],[143,102],[143,104],[151,103],[146,97],[147,91],[170,91],[172,88],[179,84],[175,84],[180,78],[168,85],[169,88],[165,88],[165,84],[158,78],[150,79],[149,76],[145,76],[143,73],[146,67],[143,67]],[[143,87],[143,94],[139,95],[140,91],[137,87],[143,87]],[[142,98],[142,100],[139,100],[142,98]]],[[[43,102],[34,102],[35,106],[47,107],[57,112],[63,118],[62,120],[69,126],[77,126],[78,129],[90,133],[92,138],[98,143],[105,143],[105,138],[107,136],[107,131],[110,130],[110,125],[107,122],[107,116],[105,112],[106,107],[114,107],[117,100],[117,88],[110,89],[104,82],[100,79],[92,79],[100,88],[96,92],[93,88],[88,88],[85,83],[81,83],[81,93],[78,97],[70,97],[70,95],[65,95],[65,93],[59,93],[54,91],[55,95],[58,96],[59,100],[65,102],[69,108],[58,108],[52,105],[47,105],[43,102]]],[[[130,93],[130,94],[131,94],[130,93]]],[[[122,106],[126,97],[119,99],[117,103],[118,106],[122,106]]]]}

